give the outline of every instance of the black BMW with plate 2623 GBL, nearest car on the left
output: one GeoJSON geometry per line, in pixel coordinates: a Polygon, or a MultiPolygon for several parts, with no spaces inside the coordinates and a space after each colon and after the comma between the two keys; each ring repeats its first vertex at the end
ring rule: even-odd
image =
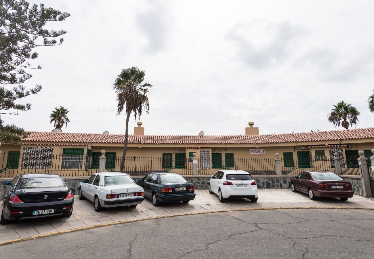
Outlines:
{"type": "Polygon", "coordinates": [[[3,196],[0,224],[12,220],[51,216],[70,217],[74,197],[64,180],[56,174],[22,174],[7,185],[3,196]]]}

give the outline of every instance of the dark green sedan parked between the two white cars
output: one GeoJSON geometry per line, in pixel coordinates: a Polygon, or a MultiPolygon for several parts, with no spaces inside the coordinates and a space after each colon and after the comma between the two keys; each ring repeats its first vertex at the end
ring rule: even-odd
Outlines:
{"type": "Polygon", "coordinates": [[[150,198],[154,206],[171,201],[188,203],[196,195],[194,186],[176,173],[150,173],[140,178],[137,185],[144,189],[144,196],[150,198]]]}

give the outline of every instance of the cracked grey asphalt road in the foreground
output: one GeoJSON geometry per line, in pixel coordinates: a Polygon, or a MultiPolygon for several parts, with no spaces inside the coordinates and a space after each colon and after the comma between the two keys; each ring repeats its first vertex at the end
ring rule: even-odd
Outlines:
{"type": "Polygon", "coordinates": [[[1,258],[373,258],[373,210],[235,211],[146,220],[0,247],[1,258]]]}

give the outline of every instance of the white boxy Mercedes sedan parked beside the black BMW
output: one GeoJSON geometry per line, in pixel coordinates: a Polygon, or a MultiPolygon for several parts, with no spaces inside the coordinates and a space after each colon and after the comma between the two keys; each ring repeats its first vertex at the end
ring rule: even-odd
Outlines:
{"type": "Polygon", "coordinates": [[[95,173],[79,183],[79,199],[89,199],[95,210],[127,206],[137,207],[144,200],[144,190],[125,173],[95,173]]]}

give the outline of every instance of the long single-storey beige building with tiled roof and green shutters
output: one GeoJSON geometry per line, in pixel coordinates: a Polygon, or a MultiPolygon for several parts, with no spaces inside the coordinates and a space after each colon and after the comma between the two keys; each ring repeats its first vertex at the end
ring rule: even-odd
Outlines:
{"type": "MultiPolygon", "coordinates": [[[[220,168],[236,168],[256,174],[272,174],[275,154],[282,159],[284,173],[300,168],[334,170],[338,153],[346,174],[357,174],[358,151],[373,155],[374,128],[259,135],[249,122],[243,135],[144,135],[141,123],[129,135],[125,171],[144,175],[149,171],[172,170],[191,174],[193,153],[199,159],[199,174],[220,168]]],[[[100,151],[105,150],[107,170],[117,171],[124,135],[63,132],[31,132],[19,144],[3,144],[0,177],[20,173],[58,173],[86,176],[98,169],[100,151]]]]}

